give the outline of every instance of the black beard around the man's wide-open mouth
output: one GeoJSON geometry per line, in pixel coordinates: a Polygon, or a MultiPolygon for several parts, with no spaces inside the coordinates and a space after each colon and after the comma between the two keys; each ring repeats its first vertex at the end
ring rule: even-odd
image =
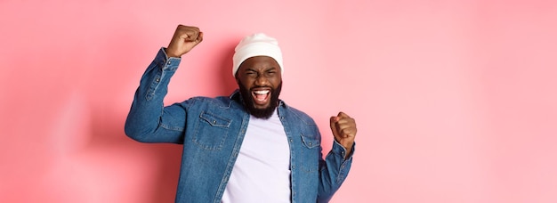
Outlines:
{"type": "Polygon", "coordinates": [[[280,84],[278,84],[277,89],[270,88],[270,104],[269,107],[265,109],[256,109],[254,105],[254,99],[252,98],[252,93],[246,88],[246,86],[240,84],[239,82],[238,86],[240,88],[240,94],[242,95],[244,106],[252,116],[254,116],[255,118],[264,119],[269,119],[270,116],[272,116],[278,106],[278,94],[280,94],[280,90],[282,89],[282,81],[280,81],[280,84]]]}

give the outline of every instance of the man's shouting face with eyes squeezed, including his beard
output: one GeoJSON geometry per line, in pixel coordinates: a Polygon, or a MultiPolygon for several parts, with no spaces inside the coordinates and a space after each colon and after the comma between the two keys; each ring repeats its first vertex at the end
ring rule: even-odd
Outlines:
{"type": "Polygon", "coordinates": [[[247,110],[255,118],[270,118],[282,87],[277,61],[268,56],[248,58],[239,66],[236,81],[247,110]]]}

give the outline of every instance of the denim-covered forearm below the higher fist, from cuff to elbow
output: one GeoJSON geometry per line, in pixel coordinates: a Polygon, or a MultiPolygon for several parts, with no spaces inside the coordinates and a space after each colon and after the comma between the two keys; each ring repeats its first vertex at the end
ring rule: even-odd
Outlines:
{"type": "MultiPolygon", "coordinates": [[[[168,142],[153,136],[159,129],[164,114],[164,98],[167,85],[174,75],[179,58],[167,58],[164,49],[143,73],[133,97],[132,107],[125,121],[125,134],[140,142],[168,142]]],[[[159,137],[160,138],[160,137],[159,137]]]]}

